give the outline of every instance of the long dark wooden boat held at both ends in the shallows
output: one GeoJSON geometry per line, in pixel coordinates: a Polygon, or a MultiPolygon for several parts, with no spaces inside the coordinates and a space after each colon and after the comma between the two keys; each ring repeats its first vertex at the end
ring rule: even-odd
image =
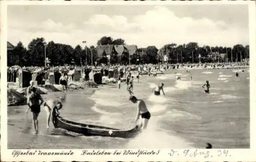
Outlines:
{"type": "Polygon", "coordinates": [[[56,113],[55,109],[52,111],[52,122],[55,128],[65,129],[65,130],[83,134],[86,136],[108,136],[108,137],[131,138],[136,136],[140,131],[137,125],[134,128],[129,130],[120,130],[116,128],[72,122],[60,117],[60,115],[56,113]]]}

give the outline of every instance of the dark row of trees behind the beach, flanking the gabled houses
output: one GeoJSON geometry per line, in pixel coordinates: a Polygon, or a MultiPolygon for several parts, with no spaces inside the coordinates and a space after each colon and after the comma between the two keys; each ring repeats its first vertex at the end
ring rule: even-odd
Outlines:
{"type": "MultiPolygon", "coordinates": [[[[102,37],[97,41],[97,45],[124,45],[125,41],[121,38],[113,40],[112,37],[102,37]]],[[[86,45],[86,44],[85,44],[86,45]]],[[[242,44],[231,47],[209,47],[205,45],[199,47],[197,42],[177,45],[175,43],[166,44],[161,49],[155,46],[147,48],[139,48],[138,56],[131,63],[159,63],[162,62],[163,56],[167,54],[170,63],[197,63],[201,62],[223,62],[223,61],[241,61],[249,58],[249,45],[245,47],[242,44]],[[217,54],[227,54],[223,59],[217,54]],[[232,54],[232,56],[231,56],[232,54]],[[226,60],[227,58],[227,60],[226,60]]],[[[65,64],[91,65],[95,61],[99,61],[99,55],[96,47],[81,47],[77,45],[75,48],[68,44],[55,43],[53,41],[46,42],[44,38],[33,39],[27,48],[22,42],[18,42],[12,51],[8,51],[8,66],[44,66],[45,58],[48,58],[47,64],[58,66],[65,64]],[[93,57],[93,58],[91,58],[93,57]]],[[[111,63],[129,63],[129,60],[111,63]]]]}

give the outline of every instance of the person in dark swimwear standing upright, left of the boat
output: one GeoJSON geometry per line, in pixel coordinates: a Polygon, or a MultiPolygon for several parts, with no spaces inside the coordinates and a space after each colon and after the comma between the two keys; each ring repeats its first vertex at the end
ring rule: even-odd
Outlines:
{"type": "Polygon", "coordinates": [[[31,110],[32,115],[33,115],[33,125],[35,128],[35,133],[38,133],[38,114],[40,112],[40,106],[41,104],[44,103],[44,100],[42,97],[36,93],[36,88],[32,87],[31,89],[31,94],[28,97],[27,104],[29,108],[27,109],[26,113],[28,113],[29,110],[31,110]],[[39,100],[41,101],[39,104],[39,100]]]}

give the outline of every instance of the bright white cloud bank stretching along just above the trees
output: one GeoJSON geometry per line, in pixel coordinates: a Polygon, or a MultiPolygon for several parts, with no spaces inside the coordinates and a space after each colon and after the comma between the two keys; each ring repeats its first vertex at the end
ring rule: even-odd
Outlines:
{"type": "Polygon", "coordinates": [[[123,38],[127,44],[137,44],[138,47],[156,45],[157,48],[171,42],[183,44],[196,41],[200,45],[225,46],[249,41],[248,29],[207,18],[177,17],[162,6],[130,19],[122,15],[96,14],[81,21],[84,21],[82,27],[72,23],[64,25],[51,19],[40,24],[10,21],[8,40],[14,43],[20,40],[27,45],[35,37],[45,37],[46,41],[84,46],[81,43],[83,40],[88,45],[95,45],[100,37],[112,36],[114,39],[123,38]]]}

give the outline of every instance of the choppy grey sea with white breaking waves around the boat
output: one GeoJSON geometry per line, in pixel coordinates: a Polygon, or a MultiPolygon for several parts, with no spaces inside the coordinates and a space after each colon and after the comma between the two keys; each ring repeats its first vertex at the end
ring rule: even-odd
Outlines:
{"type": "MultiPolygon", "coordinates": [[[[134,81],[134,96],[145,101],[152,117],[147,129],[130,139],[83,136],[56,129],[52,123],[47,129],[44,108],[39,133],[34,134],[31,114],[25,114],[27,106],[8,107],[8,149],[205,148],[206,143],[213,148],[250,148],[249,88],[249,69],[142,75],[139,82],[134,81]],[[210,94],[202,88],[206,80],[210,94]],[[160,83],[165,96],[152,95],[152,88],[160,83]]],[[[137,105],[129,96],[124,82],[120,89],[113,84],[42,95],[45,100],[62,98],[60,114],[65,119],[119,129],[135,126],[137,105]]]]}

